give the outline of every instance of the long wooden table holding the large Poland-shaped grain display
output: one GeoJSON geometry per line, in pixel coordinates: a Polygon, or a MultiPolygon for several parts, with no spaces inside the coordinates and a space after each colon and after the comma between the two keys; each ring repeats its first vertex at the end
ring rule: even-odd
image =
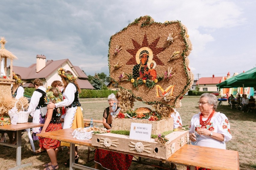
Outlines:
{"type": "MultiPolygon", "coordinates": [[[[73,131],[74,129],[71,128],[62,129],[53,132],[38,133],[37,136],[57,139],[62,142],[70,143],[70,170],[74,170],[75,168],[93,169],[87,166],[75,164],[75,144],[91,147],[92,141],[91,139],[78,140],[73,138],[73,131]]],[[[195,169],[195,166],[215,170],[239,170],[238,151],[215,149],[194,145],[184,145],[182,148],[172,154],[172,156],[169,157],[166,161],[188,165],[190,166],[190,170],[195,169]]]]}

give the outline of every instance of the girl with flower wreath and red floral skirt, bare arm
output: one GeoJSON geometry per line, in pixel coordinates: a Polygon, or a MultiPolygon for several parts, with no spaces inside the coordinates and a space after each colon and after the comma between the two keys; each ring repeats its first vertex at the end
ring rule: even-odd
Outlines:
{"type": "MultiPolygon", "coordinates": [[[[46,90],[46,98],[45,102],[52,102],[52,103],[59,103],[62,101],[62,94],[59,92],[59,89],[55,87],[49,87],[46,90]]],[[[44,122],[44,127],[41,132],[50,132],[62,129],[60,116],[61,116],[61,107],[54,108],[54,109],[47,109],[47,115],[44,122]]],[[[42,138],[39,137],[39,146],[43,150],[47,151],[47,154],[50,157],[51,162],[44,165],[46,167],[44,170],[50,170],[48,166],[51,166],[52,169],[58,169],[57,163],[57,154],[58,154],[58,147],[60,146],[60,142],[55,139],[50,138],[42,138]]]]}

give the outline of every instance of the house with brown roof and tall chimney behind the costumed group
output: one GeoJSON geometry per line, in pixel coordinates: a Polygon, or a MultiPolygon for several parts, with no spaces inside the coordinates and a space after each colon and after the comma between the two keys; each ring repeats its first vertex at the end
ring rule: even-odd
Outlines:
{"type": "MultiPolygon", "coordinates": [[[[73,66],[69,59],[63,60],[47,60],[44,55],[36,56],[36,63],[29,67],[13,66],[13,71],[19,74],[24,82],[23,87],[34,87],[33,82],[36,78],[43,81],[43,86],[47,87],[52,84],[53,81],[61,81],[60,76],[57,74],[59,68],[64,68],[77,76],[77,83],[81,89],[95,89],[88,81],[87,75],[78,67],[73,66]]],[[[10,68],[8,69],[8,74],[10,68]]]]}

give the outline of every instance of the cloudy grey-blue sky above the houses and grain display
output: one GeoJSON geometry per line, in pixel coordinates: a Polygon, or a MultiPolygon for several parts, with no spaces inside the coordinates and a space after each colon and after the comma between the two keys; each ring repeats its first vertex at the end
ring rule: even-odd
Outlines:
{"type": "Polygon", "coordinates": [[[5,48],[28,67],[37,54],[47,60],[68,58],[87,75],[108,71],[108,42],[134,19],[180,20],[193,50],[195,78],[232,76],[256,66],[255,0],[2,0],[0,36],[5,48]]]}

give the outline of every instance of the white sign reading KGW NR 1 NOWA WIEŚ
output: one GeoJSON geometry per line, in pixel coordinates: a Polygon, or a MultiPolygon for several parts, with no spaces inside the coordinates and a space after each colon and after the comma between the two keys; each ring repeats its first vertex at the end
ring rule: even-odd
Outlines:
{"type": "Polygon", "coordinates": [[[130,129],[130,139],[150,141],[152,124],[133,123],[130,129]]]}

